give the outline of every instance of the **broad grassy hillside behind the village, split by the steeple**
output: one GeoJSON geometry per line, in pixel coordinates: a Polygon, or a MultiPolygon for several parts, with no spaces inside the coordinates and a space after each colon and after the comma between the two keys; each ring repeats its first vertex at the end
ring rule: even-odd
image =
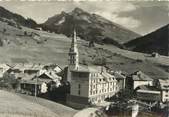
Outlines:
{"type": "MultiPolygon", "coordinates": [[[[0,23],[3,27],[4,23],[0,23]]],[[[0,31],[4,44],[0,47],[0,63],[56,63],[62,68],[68,64],[68,51],[71,39],[62,34],[48,33],[23,27],[17,29],[6,26],[6,32],[0,31]],[[24,35],[24,32],[27,35],[24,35]],[[35,33],[39,39],[29,35],[35,33]]],[[[0,28],[3,29],[3,28],[0,28]]],[[[130,52],[112,45],[99,45],[89,48],[88,42],[78,38],[81,64],[103,64],[113,70],[130,74],[141,70],[152,78],[167,78],[169,58],[152,58],[149,55],[130,52]]]]}

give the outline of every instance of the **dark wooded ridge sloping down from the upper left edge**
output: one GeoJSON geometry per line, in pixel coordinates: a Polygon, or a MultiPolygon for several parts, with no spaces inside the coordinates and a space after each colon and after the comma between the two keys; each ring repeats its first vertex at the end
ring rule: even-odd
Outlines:
{"type": "Polygon", "coordinates": [[[31,18],[25,19],[23,16],[16,13],[12,13],[1,6],[0,6],[0,21],[7,22],[9,24],[22,25],[29,28],[35,28],[37,26],[37,23],[31,18]]]}

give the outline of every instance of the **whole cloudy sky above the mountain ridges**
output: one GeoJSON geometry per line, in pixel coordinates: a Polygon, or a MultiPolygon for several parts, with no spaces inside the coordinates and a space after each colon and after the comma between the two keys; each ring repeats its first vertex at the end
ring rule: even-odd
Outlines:
{"type": "Polygon", "coordinates": [[[43,23],[49,17],[62,11],[70,12],[79,7],[87,12],[101,15],[141,35],[150,33],[169,23],[169,2],[165,1],[1,1],[0,6],[25,18],[32,18],[37,23],[43,23]]]}

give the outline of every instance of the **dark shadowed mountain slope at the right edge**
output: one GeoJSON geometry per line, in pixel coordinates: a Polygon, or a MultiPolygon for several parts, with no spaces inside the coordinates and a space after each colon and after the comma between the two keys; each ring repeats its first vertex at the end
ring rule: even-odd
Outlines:
{"type": "Polygon", "coordinates": [[[169,24],[143,37],[125,43],[130,50],[143,53],[158,52],[169,55],[169,24]]]}

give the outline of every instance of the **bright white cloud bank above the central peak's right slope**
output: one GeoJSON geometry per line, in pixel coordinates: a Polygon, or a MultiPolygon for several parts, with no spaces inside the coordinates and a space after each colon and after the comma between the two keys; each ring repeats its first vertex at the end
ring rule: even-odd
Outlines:
{"type": "Polygon", "coordinates": [[[76,7],[101,15],[110,21],[118,23],[127,28],[136,28],[141,25],[141,22],[131,16],[119,17],[121,12],[131,12],[137,9],[137,5],[130,2],[77,2],[76,7]]]}

